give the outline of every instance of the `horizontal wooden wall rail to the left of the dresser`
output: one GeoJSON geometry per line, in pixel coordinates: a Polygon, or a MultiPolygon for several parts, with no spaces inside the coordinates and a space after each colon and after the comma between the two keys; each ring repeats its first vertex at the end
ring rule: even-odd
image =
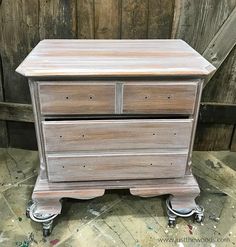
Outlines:
{"type": "Polygon", "coordinates": [[[0,102],[0,120],[34,122],[32,105],[0,102]]]}

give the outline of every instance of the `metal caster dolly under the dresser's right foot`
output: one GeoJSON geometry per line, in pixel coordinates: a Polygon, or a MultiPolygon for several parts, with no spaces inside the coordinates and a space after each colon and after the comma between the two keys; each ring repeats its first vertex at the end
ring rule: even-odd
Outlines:
{"type": "Polygon", "coordinates": [[[169,227],[175,227],[176,225],[176,217],[189,217],[194,215],[194,221],[201,223],[204,219],[204,208],[200,207],[199,205],[196,206],[194,209],[190,209],[188,211],[179,212],[171,207],[171,201],[168,198],[166,200],[166,207],[167,207],[167,214],[168,214],[168,225],[169,227]]]}

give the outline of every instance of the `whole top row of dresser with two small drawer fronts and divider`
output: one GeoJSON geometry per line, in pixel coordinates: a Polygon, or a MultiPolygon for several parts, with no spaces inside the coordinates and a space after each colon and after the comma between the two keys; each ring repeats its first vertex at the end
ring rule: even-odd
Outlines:
{"type": "Polygon", "coordinates": [[[43,115],[192,114],[198,80],[38,82],[43,115]]]}

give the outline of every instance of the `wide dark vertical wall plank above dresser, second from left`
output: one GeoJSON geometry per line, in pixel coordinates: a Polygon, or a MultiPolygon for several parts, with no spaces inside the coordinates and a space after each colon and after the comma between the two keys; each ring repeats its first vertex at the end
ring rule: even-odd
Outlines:
{"type": "Polygon", "coordinates": [[[39,1],[40,39],[76,38],[76,0],[39,1]]]}

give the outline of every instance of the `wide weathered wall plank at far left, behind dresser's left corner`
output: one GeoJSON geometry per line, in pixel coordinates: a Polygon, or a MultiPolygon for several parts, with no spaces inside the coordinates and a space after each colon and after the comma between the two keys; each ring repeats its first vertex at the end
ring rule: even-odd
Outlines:
{"type": "MultiPolygon", "coordinates": [[[[0,53],[2,56],[5,101],[30,103],[27,79],[15,72],[16,67],[38,43],[38,0],[1,1],[0,53]]],[[[9,145],[33,140],[33,124],[7,124],[9,145]],[[12,135],[12,133],[16,135],[12,135]],[[25,138],[27,136],[27,138],[25,138]]],[[[30,144],[30,141],[28,142],[30,144]]],[[[20,146],[19,146],[20,147],[20,146]]]]}

